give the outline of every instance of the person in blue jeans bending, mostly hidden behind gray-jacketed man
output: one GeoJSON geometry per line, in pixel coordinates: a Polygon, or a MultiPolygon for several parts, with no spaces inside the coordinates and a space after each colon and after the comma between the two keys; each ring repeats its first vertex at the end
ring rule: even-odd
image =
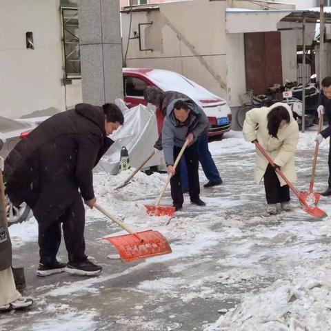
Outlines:
{"type": "MultiPolygon", "coordinates": [[[[148,86],[144,91],[144,99],[148,103],[152,103],[154,106],[159,108],[161,115],[164,119],[167,108],[170,103],[176,99],[190,99],[187,95],[177,91],[166,91],[163,92],[156,86],[148,86]]],[[[192,99],[190,99],[192,103],[192,99]]],[[[197,103],[195,103],[197,107],[197,103]]],[[[219,170],[212,159],[212,154],[208,148],[208,133],[202,134],[198,141],[199,147],[199,161],[202,166],[202,170],[205,173],[205,177],[208,179],[208,183],[203,185],[205,188],[210,188],[215,185],[221,185],[223,183],[219,170]]],[[[159,139],[154,144],[154,148],[162,150],[162,134],[159,135],[159,139]]],[[[183,192],[188,192],[188,170],[186,168],[185,157],[181,159],[181,188],[183,192]]]]}

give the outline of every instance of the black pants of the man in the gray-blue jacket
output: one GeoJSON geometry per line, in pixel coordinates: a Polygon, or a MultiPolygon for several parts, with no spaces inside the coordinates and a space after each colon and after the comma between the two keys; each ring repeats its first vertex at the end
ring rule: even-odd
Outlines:
{"type": "MultiPolygon", "coordinates": [[[[177,158],[181,148],[174,146],[174,160],[177,158]]],[[[185,162],[188,168],[188,193],[191,201],[199,199],[200,183],[199,183],[199,151],[198,143],[195,142],[185,149],[185,162]]],[[[181,190],[181,163],[179,162],[176,168],[176,173],[170,179],[171,197],[173,205],[183,205],[184,198],[181,190]]]]}

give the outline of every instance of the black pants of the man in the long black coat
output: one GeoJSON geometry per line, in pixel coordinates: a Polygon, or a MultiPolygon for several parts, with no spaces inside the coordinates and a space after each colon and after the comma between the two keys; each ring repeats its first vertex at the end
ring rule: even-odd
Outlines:
{"type": "Polygon", "coordinates": [[[54,221],[38,222],[40,262],[45,265],[52,265],[57,260],[57,252],[61,243],[61,223],[69,262],[85,261],[85,209],[81,197],[77,195],[77,199],[61,217],[54,221]]]}

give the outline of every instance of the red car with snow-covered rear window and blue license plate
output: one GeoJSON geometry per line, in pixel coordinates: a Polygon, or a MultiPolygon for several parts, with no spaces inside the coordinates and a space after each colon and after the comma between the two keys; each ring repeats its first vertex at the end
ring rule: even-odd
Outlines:
{"type": "MultiPolygon", "coordinates": [[[[186,94],[203,108],[210,121],[209,137],[221,137],[230,131],[232,116],[225,100],[212,94],[194,81],[177,72],[161,69],[123,68],[124,101],[128,108],[146,105],[143,91],[147,86],[157,86],[163,91],[178,91],[186,94]]],[[[163,119],[157,110],[157,126],[162,130],[163,119]]]]}

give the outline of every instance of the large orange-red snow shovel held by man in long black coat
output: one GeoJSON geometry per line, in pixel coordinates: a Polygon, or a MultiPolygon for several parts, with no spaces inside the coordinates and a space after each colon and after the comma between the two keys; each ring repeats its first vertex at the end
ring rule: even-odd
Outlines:
{"type": "Polygon", "coordinates": [[[167,239],[160,232],[153,230],[133,232],[126,224],[113,217],[107,210],[97,205],[97,203],[94,207],[108,217],[108,219],[117,223],[117,225],[130,233],[104,238],[115,246],[123,262],[147,259],[148,257],[156,257],[157,255],[172,252],[167,239]]]}

